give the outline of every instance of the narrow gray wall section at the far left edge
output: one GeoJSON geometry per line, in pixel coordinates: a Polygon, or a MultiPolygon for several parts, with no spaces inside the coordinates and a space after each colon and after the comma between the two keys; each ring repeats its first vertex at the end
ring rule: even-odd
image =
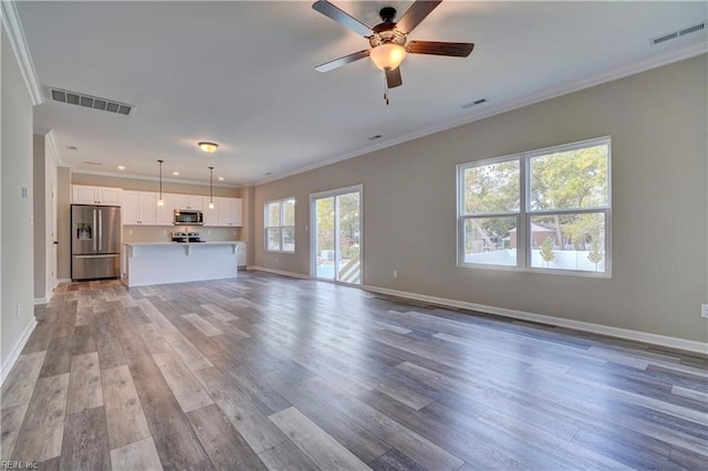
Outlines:
{"type": "Polygon", "coordinates": [[[0,355],[2,376],[23,334],[34,322],[32,266],[32,101],[24,85],[10,41],[2,34],[0,75],[0,355]],[[27,198],[22,188],[29,189],[27,198]],[[19,311],[20,315],[17,316],[19,311]]]}

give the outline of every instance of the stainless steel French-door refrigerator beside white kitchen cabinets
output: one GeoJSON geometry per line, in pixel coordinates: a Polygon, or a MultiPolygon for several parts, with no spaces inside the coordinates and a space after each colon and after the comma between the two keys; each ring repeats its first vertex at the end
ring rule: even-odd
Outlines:
{"type": "Polygon", "coordinates": [[[71,206],[71,278],[121,276],[121,207],[71,206]]]}

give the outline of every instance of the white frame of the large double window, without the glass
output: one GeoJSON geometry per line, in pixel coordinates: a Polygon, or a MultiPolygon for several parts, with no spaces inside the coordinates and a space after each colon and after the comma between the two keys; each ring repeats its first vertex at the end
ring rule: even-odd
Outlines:
{"type": "Polygon", "coordinates": [[[457,266],[465,269],[480,269],[480,270],[500,270],[500,271],[513,271],[513,272],[531,272],[531,273],[549,273],[549,274],[562,274],[571,276],[587,276],[587,278],[612,278],[612,138],[611,136],[603,136],[592,139],[580,140],[570,144],[563,144],[559,146],[545,147],[541,149],[523,151],[518,154],[506,155],[502,157],[493,157],[483,160],[468,161],[459,164],[457,166],[457,266]],[[585,147],[607,146],[607,205],[601,207],[587,207],[587,208],[562,208],[562,209],[544,209],[537,210],[531,209],[531,159],[534,157],[577,150],[585,147]],[[506,161],[519,163],[519,210],[508,212],[465,212],[465,171],[469,168],[483,167],[493,164],[500,164],[506,161]],[[531,221],[533,217],[538,216],[562,216],[562,214],[583,214],[583,213],[602,213],[604,214],[604,272],[584,271],[584,270],[564,270],[553,268],[542,268],[531,265],[531,221]],[[465,261],[465,228],[466,221],[470,219],[482,218],[517,218],[517,264],[516,265],[501,265],[489,263],[473,263],[465,261]]]}

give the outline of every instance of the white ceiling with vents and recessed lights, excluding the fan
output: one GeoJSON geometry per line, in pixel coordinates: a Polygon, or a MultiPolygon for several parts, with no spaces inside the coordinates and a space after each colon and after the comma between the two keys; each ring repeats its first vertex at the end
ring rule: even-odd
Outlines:
{"type": "MultiPolygon", "coordinates": [[[[382,7],[400,18],[412,2],[333,3],[374,25],[382,7]]],[[[705,21],[706,2],[448,0],[409,40],[475,42],[475,51],[409,55],[386,106],[383,73],[368,59],[314,70],[368,43],[311,4],[15,2],[42,85],[135,105],[121,116],[45,100],[35,128],[53,129],[75,171],[154,178],[164,159],[166,177],[208,182],[214,165],[215,177],[241,186],[706,50],[705,31],[649,43],[705,21]],[[488,103],[461,107],[478,98],[488,103]],[[207,156],[199,140],[220,148],[207,156]]]]}

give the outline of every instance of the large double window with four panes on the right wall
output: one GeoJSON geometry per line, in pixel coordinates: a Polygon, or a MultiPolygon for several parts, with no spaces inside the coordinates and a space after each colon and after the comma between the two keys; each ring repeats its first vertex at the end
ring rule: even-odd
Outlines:
{"type": "Polygon", "coordinates": [[[458,166],[458,264],[610,273],[610,138],[458,166]]]}

